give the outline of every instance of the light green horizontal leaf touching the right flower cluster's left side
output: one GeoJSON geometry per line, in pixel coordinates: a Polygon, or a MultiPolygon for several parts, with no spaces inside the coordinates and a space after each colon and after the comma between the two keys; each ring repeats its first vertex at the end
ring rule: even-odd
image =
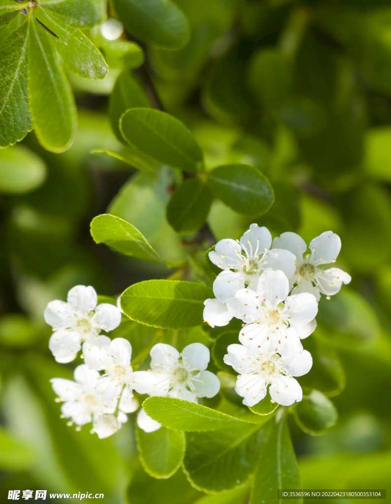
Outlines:
{"type": "Polygon", "coordinates": [[[128,287],[121,308],[129,319],[162,329],[199,326],[204,301],[212,291],[204,285],[177,280],[146,280],[128,287]]]}

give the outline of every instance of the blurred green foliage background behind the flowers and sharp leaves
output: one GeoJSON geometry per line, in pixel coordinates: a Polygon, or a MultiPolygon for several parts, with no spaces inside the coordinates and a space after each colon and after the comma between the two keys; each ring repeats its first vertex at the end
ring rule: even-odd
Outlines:
{"type": "MultiPolygon", "coordinates": [[[[175,3],[191,27],[183,49],[144,47],[143,71],[120,74],[112,68],[99,82],[70,75],[79,110],[70,150],[48,153],[29,134],[0,151],[0,493],[88,490],[104,493],[104,502],[114,504],[125,501],[135,474],[131,504],[209,502],[179,472],[168,486],[143,473],[134,415],[108,439],[99,440],[88,428],[75,432],[59,419],[48,382],[71,376],[81,363],[57,364],[50,355],[50,328],[43,320],[48,301],[66,298],[77,284],[117,295],[135,282],[174,274],[94,244],[89,222],[95,215],[109,209],[125,218],[170,261],[183,260],[198,239],[179,236],[165,219],[176,182],[172,171],[140,173],[90,153],[124,148],[109,117],[109,102],[119,100],[121,83],[127,90],[124,108],[156,106],[157,96],[164,110],[181,119],[206,152],[207,167],[240,162],[262,170],[276,202],[257,223],[274,236],[295,231],[307,243],[327,230],[341,236],[336,266],[353,280],[332,300],[320,301],[319,328],[304,346],[324,374],[309,373],[301,381],[333,398],[339,420],[319,436],[303,433],[294,421],[290,428],[303,488],[386,488],[391,474],[389,2],[175,3]],[[115,84],[116,79],[121,81],[115,84]],[[174,484],[181,489],[178,497],[170,493],[174,484]]],[[[94,30],[97,37],[99,28],[94,30]]],[[[219,201],[208,218],[215,240],[236,238],[251,222],[219,201]]],[[[196,262],[182,278],[200,279],[196,262]]],[[[233,498],[213,502],[242,501],[233,498]]]]}

